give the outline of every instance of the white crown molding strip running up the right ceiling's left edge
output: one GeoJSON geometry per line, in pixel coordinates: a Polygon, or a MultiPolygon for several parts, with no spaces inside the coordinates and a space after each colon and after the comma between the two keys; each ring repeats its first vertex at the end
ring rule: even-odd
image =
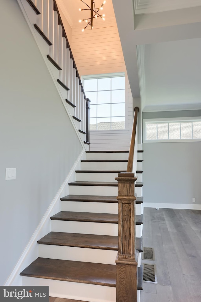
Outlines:
{"type": "Polygon", "coordinates": [[[137,61],[138,61],[139,89],[140,89],[140,96],[141,96],[141,104],[142,104],[142,108],[144,108],[145,101],[146,101],[145,46],[144,45],[137,45],[137,61]]]}

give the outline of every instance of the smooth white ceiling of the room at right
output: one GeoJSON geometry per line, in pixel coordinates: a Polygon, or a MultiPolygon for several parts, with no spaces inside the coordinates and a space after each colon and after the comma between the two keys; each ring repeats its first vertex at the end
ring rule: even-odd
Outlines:
{"type": "Polygon", "coordinates": [[[201,38],[144,47],[144,111],[201,109],[201,38]]]}

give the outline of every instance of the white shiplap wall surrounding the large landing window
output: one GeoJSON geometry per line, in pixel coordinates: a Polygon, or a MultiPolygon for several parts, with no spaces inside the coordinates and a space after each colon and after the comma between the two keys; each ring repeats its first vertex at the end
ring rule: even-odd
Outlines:
{"type": "MultiPolygon", "coordinates": [[[[83,25],[81,25],[83,27],[83,25]]],[[[95,20],[93,30],[81,32],[82,27],[72,29],[72,52],[79,74],[108,74],[125,72],[121,42],[115,19],[95,20]]],[[[125,112],[126,131],[91,131],[90,151],[128,150],[133,123],[133,98],[126,74],[125,112]]]]}

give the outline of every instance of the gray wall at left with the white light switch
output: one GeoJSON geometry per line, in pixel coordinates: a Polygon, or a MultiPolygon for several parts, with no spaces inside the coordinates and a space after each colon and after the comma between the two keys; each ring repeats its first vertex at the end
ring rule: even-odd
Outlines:
{"type": "Polygon", "coordinates": [[[15,0],[0,10],[0,285],[82,146],[15,0]],[[5,181],[5,168],[16,180],[5,181]]]}

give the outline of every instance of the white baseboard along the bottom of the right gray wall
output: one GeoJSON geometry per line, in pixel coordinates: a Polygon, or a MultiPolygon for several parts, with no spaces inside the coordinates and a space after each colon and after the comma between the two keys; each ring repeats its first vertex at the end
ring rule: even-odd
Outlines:
{"type": "Polygon", "coordinates": [[[144,208],[201,210],[201,205],[193,205],[193,204],[185,204],[185,203],[144,202],[143,205],[144,208]]]}

